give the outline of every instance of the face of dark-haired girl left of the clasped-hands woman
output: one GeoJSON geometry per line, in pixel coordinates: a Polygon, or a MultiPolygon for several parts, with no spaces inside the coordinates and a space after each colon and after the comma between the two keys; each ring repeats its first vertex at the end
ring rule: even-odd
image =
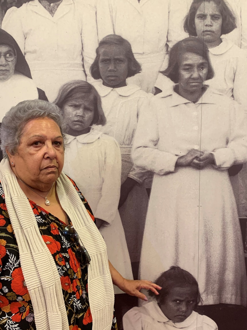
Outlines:
{"type": "Polygon", "coordinates": [[[120,45],[104,45],[99,49],[99,73],[107,87],[126,86],[128,59],[120,45]]]}

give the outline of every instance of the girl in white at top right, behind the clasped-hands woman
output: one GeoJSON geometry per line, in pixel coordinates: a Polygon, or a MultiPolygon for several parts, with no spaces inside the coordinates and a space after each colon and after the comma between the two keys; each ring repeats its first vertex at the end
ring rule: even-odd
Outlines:
{"type": "MultiPolygon", "coordinates": [[[[215,76],[208,84],[233,98],[247,113],[247,58],[246,52],[222,34],[231,32],[235,18],[224,0],[194,0],[185,18],[184,29],[203,39],[209,49],[215,76]]],[[[231,177],[239,217],[247,216],[247,165],[231,177]]]]}

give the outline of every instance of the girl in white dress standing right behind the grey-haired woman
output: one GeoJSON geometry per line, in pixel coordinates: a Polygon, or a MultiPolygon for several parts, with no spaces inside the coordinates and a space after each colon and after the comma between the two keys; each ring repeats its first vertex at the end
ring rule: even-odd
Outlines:
{"type": "MultiPolygon", "coordinates": [[[[64,172],[76,178],[79,189],[87,196],[113,266],[131,280],[131,264],[118,212],[120,149],[115,139],[91,127],[106,122],[100,97],[88,82],[75,80],[60,88],[55,103],[62,109],[69,127],[64,172]]],[[[114,292],[124,293],[117,286],[114,292]]]]}

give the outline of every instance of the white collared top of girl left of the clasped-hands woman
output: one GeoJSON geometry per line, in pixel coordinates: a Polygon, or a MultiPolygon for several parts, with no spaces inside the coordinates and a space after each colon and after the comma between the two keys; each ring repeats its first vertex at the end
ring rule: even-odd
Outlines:
{"type": "Polygon", "coordinates": [[[142,109],[145,109],[147,100],[153,95],[147,94],[136,85],[111,88],[104,86],[102,82],[96,82],[94,86],[101,97],[106,116],[106,125],[101,129],[103,133],[116,139],[120,145],[122,183],[127,176],[142,183],[147,173],[141,171],[140,168],[132,167],[130,153],[139,114],[142,109]]]}

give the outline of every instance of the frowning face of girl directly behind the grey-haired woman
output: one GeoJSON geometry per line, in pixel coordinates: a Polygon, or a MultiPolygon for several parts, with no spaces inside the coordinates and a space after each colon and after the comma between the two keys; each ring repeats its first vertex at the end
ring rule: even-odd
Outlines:
{"type": "Polygon", "coordinates": [[[80,134],[88,132],[88,128],[94,119],[94,100],[92,96],[85,97],[85,99],[71,99],[65,102],[62,110],[70,132],[76,131],[80,134]]]}

